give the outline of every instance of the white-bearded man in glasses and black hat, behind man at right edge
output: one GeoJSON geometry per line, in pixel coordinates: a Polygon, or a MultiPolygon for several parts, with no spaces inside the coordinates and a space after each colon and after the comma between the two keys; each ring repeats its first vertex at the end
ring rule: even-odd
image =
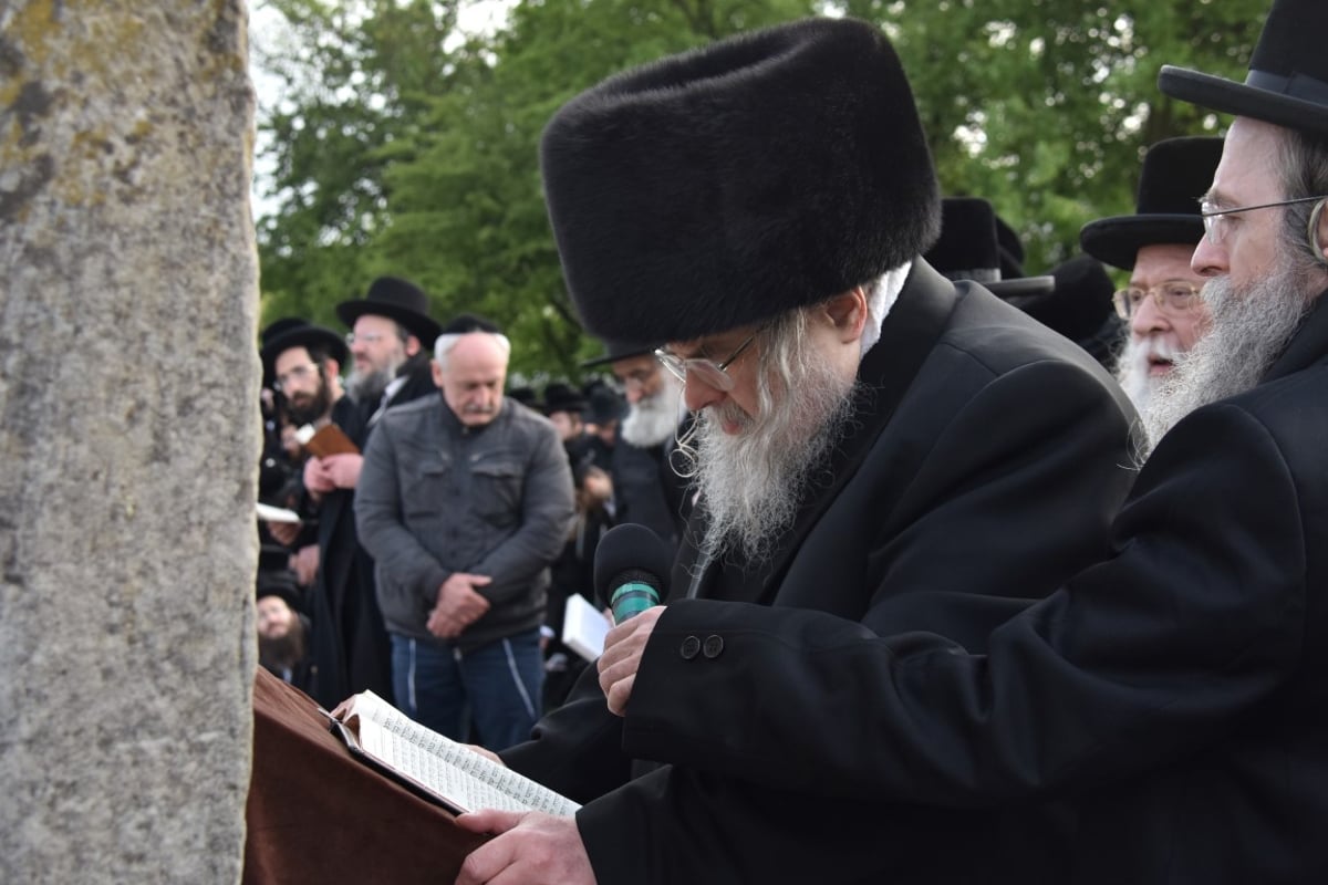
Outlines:
{"type": "Polygon", "coordinates": [[[1130,271],[1130,284],[1113,295],[1116,312],[1129,322],[1116,377],[1141,413],[1207,324],[1203,277],[1190,256],[1203,238],[1195,195],[1208,188],[1220,155],[1220,138],[1158,142],[1143,157],[1134,215],[1098,219],[1080,231],[1085,252],[1130,271]]]}

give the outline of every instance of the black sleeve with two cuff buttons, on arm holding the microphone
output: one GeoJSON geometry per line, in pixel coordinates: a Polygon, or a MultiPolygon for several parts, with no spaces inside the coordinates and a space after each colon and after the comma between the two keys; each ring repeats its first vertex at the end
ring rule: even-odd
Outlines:
{"type": "Polygon", "coordinates": [[[1278,444],[1235,406],[1204,409],[1141,474],[1114,555],[996,629],[984,654],[819,612],[679,604],[647,649],[625,747],[887,801],[1101,785],[1198,751],[1268,698],[1303,651],[1305,568],[1278,444]],[[710,634],[722,654],[677,654],[710,634]]]}

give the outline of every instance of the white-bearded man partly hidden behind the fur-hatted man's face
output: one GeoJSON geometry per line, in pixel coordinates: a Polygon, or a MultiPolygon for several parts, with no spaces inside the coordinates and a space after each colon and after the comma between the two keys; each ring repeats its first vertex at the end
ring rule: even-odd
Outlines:
{"type": "Polygon", "coordinates": [[[691,513],[688,480],[673,463],[677,438],[691,426],[683,383],[660,368],[653,348],[608,341],[606,350],[583,366],[608,364],[628,403],[610,455],[614,520],[645,525],[676,552],[691,513]]]}

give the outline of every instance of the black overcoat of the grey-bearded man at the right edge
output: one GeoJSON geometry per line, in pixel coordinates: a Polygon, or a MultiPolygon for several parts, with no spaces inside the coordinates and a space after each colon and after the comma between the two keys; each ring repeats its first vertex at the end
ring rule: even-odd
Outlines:
{"type": "Polygon", "coordinates": [[[826,803],[1061,796],[1077,815],[1064,882],[1328,881],[1325,295],[1256,387],[1161,441],[1112,555],[983,654],[932,634],[859,642],[862,628],[811,613],[790,632],[768,610],[680,605],[651,640],[624,747],[761,780],[761,760],[815,754],[794,780],[826,803]],[[679,666],[697,630],[736,654],[679,666]],[[817,679],[846,657],[854,690],[827,702],[817,679]],[[777,702],[784,726],[750,727],[718,698],[777,702]],[[813,711],[854,727],[815,740],[786,727],[813,711]]]}

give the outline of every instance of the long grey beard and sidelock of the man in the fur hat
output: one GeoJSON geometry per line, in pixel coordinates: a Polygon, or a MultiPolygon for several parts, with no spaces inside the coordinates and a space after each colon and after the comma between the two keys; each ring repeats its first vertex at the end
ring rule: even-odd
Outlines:
{"type": "Polygon", "coordinates": [[[822,353],[799,346],[801,340],[773,333],[761,366],[758,415],[732,399],[697,415],[691,442],[706,513],[701,551],[709,557],[770,559],[817,480],[829,480],[826,456],[853,418],[857,382],[842,378],[822,353]],[[726,422],[738,431],[724,433],[726,422]]]}

